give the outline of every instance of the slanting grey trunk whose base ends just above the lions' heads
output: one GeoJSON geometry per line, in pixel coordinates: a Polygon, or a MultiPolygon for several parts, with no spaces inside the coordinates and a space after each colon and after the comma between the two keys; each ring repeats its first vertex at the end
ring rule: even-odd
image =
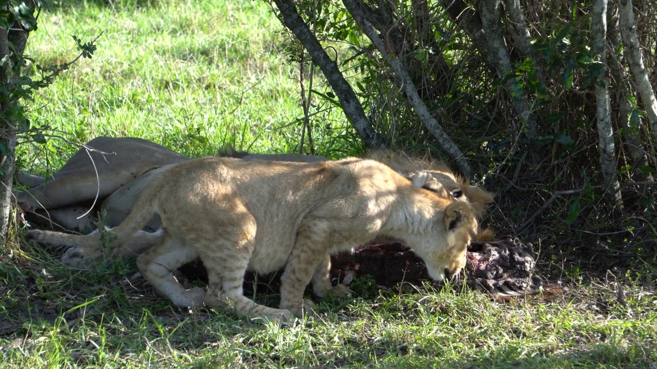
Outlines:
{"type": "Polygon", "coordinates": [[[459,166],[459,169],[466,176],[471,177],[472,168],[470,167],[468,160],[466,160],[466,158],[463,156],[463,152],[461,152],[459,146],[457,146],[457,144],[452,141],[443,127],[441,127],[440,123],[438,123],[436,118],[434,118],[434,116],[432,116],[432,114],[429,112],[426,104],[424,104],[422,98],[420,98],[420,95],[417,93],[417,87],[415,87],[413,79],[408,74],[403,64],[401,64],[401,62],[397,58],[394,58],[391,54],[386,53],[386,45],[383,39],[381,39],[374,26],[372,26],[372,24],[367,19],[365,19],[365,16],[363,16],[363,12],[361,12],[361,9],[357,3],[354,0],[342,0],[342,3],[344,3],[347,10],[351,13],[353,20],[355,20],[359,28],[361,28],[365,35],[367,35],[367,37],[372,41],[374,47],[376,47],[379,53],[384,56],[386,62],[388,62],[392,70],[394,70],[397,74],[397,77],[401,79],[404,92],[413,105],[415,113],[419,116],[420,120],[422,120],[422,123],[424,123],[424,127],[426,127],[426,129],[428,129],[428,131],[434,135],[434,137],[436,137],[436,140],[438,140],[440,146],[442,146],[443,150],[445,150],[445,152],[447,152],[447,154],[453,158],[453,160],[455,160],[459,166]]]}

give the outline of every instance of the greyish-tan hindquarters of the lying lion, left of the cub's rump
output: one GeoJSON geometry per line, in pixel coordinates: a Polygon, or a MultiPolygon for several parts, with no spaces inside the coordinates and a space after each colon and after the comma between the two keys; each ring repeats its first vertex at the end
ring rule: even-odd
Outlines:
{"type": "Polygon", "coordinates": [[[149,171],[189,160],[136,137],[96,137],[84,146],[47,180],[16,175],[19,183],[32,186],[16,191],[16,202],[37,214],[35,220],[48,220],[68,230],[93,229],[96,211],[104,209],[99,205],[113,192],[149,171]],[[95,211],[89,211],[94,204],[95,211]]]}

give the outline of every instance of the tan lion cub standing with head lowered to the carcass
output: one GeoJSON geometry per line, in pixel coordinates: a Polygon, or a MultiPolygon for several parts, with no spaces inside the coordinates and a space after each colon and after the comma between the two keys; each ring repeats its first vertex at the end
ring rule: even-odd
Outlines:
{"type": "MultiPolygon", "coordinates": [[[[212,157],[175,164],[153,179],[114,228],[113,246],[129,240],[153,213],[162,219],[163,242],[140,255],[137,266],[158,292],[175,305],[205,303],[279,320],[309,307],[303,292],[311,280],[318,295],[330,289],[330,255],[377,235],[404,240],[435,280],[459,272],[474,221],[468,204],[419,188],[382,163],[355,158],[276,163],[212,157]],[[207,292],[185,290],[171,274],[196,257],[208,269],[207,292]],[[283,267],[281,309],[244,296],[245,271],[283,267]]],[[[28,238],[101,248],[98,234],[31,230],[28,238]]]]}

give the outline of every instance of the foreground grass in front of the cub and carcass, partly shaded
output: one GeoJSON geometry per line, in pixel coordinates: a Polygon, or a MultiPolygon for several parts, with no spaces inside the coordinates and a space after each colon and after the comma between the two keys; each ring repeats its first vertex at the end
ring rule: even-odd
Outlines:
{"type": "MultiPolygon", "coordinates": [[[[367,282],[281,328],[221,309],[171,307],[131,263],[72,271],[28,249],[0,267],[0,366],[122,368],[649,368],[655,295],[629,280],[572,285],[551,299],[496,303],[478,292],[401,294],[367,282]],[[617,301],[624,286],[625,302],[617,301]],[[7,333],[11,332],[11,333],[7,333]]],[[[256,298],[271,301],[271,295],[256,298]]]]}

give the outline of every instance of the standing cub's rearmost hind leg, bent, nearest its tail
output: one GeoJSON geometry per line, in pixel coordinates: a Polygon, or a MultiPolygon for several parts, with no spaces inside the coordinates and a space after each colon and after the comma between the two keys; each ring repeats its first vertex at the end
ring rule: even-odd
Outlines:
{"type": "Polygon", "coordinates": [[[173,304],[181,307],[199,306],[203,305],[205,290],[198,287],[185,290],[172,273],[196,257],[198,252],[189,242],[173,238],[165,230],[163,242],[140,255],[137,267],[151,286],[168,297],[173,304]]]}

